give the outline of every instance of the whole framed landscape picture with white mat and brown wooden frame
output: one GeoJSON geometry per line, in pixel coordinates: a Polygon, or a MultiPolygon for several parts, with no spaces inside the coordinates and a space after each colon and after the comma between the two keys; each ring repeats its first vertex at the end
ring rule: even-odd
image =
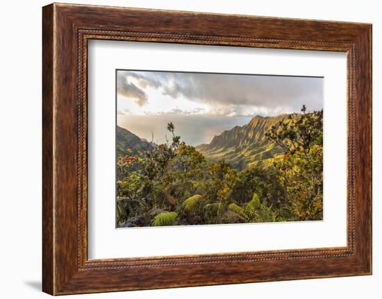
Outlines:
{"type": "Polygon", "coordinates": [[[372,273],[372,26],[43,8],[43,291],[372,273]]]}

